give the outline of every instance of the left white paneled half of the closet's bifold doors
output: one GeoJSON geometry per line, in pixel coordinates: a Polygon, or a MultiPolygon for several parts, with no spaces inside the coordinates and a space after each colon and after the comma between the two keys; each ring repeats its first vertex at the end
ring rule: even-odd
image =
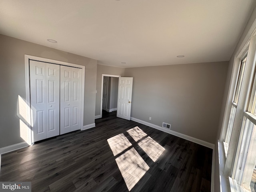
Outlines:
{"type": "Polygon", "coordinates": [[[30,60],[32,142],[60,134],[60,66],[30,60]]]}

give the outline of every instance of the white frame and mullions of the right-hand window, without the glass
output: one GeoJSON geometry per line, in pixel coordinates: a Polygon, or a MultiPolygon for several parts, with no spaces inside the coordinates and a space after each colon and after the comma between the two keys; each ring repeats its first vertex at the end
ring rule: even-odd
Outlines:
{"type": "MultiPolygon", "coordinates": [[[[256,27],[254,27],[255,29],[256,27]]],[[[232,68],[232,76],[229,86],[229,92],[228,92],[228,99],[226,102],[226,108],[224,113],[224,119],[222,121],[222,131],[220,135],[220,144],[223,145],[224,148],[224,142],[226,140],[226,134],[228,131],[228,122],[230,118],[231,108],[232,106],[236,107],[236,115],[234,118],[234,124],[232,129],[232,134],[230,138],[230,144],[227,152],[227,156],[224,159],[224,168],[223,170],[220,170],[222,172],[223,176],[226,178],[230,177],[230,186],[232,191],[240,191],[242,186],[244,186],[244,183],[248,185],[248,180],[252,177],[252,171],[249,171],[248,164],[251,164],[251,162],[246,161],[244,164],[244,169],[242,170],[242,176],[238,177],[238,174],[236,173],[236,170],[234,166],[236,166],[237,163],[237,155],[238,155],[238,147],[240,144],[240,134],[242,131],[242,125],[244,122],[244,117],[248,117],[249,120],[253,120],[253,122],[256,123],[256,117],[254,114],[250,114],[250,112],[247,112],[248,109],[252,109],[256,106],[256,99],[254,100],[254,104],[251,104],[249,102],[256,96],[256,77],[255,77],[255,63],[256,63],[256,36],[255,36],[255,30],[252,33],[252,36],[248,38],[246,42],[244,42],[244,46],[240,48],[238,51],[238,54],[234,58],[234,64],[232,68]],[[238,72],[239,72],[239,66],[240,62],[243,59],[243,56],[247,54],[246,58],[246,66],[244,71],[244,80],[242,82],[242,87],[240,90],[240,98],[238,99],[238,103],[234,103],[235,101],[235,94],[236,89],[238,86],[238,72]],[[252,84],[253,83],[253,84],[252,84]],[[252,92],[254,91],[254,92],[252,92]],[[252,96],[250,96],[250,93],[253,93],[252,96]],[[253,115],[253,116],[252,116],[253,115]],[[235,178],[238,178],[236,180],[235,178]],[[234,183],[238,184],[238,187],[234,187],[234,183]],[[232,187],[233,186],[233,187],[232,187]]],[[[256,125],[256,124],[255,124],[256,125]]],[[[255,141],[256,143],[256,141],[255,141]]],[[[256,146],[256,145],[255,145],[256,146]]],[[[254,158],[256,157],[256,154],[253,154],[252,148],[249,149],[248,156],[246,156],[246,159],[248,158],[254,158]]],[[[255,160],[255,158],[254,158],[255,160]]],[[[250,188],[250,186],[249,186],[250,188]]],[[[246,188],[248,190],[248,188],[246,188]]],[[[244,190],[244,188],[243,188],[244,190]]],[[[246,191],[246,190],[244,190],[246,191]]]]}

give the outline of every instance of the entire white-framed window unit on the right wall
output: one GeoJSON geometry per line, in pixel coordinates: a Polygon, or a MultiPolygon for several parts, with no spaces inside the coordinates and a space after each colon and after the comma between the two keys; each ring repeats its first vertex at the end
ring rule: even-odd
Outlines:
{"type": "Polygon", "coordinates": [[[220,138],[226,157],[221,172],[232,192],[256,192],[255,35],[236,55],[232,73],[220,138]]]}

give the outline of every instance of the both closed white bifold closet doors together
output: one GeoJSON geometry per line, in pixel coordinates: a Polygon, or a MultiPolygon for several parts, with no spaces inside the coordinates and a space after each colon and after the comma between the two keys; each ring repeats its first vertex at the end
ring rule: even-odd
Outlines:
{"type": "Polygon", "coordinates": [[[30,60],[32,142],[81,128],[82,69],[30,60]]]}

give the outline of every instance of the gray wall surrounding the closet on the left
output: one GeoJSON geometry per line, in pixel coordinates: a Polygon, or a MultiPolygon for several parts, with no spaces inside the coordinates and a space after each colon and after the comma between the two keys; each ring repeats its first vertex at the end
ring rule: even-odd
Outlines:
{"type": "Polygon", "coordinates": [[[24,54],[85,66],[84,125],[94,123],[97,60],[0,35],[0,148],[24,142],[17,115],[18,96],[26,99],[24,54]]]}

